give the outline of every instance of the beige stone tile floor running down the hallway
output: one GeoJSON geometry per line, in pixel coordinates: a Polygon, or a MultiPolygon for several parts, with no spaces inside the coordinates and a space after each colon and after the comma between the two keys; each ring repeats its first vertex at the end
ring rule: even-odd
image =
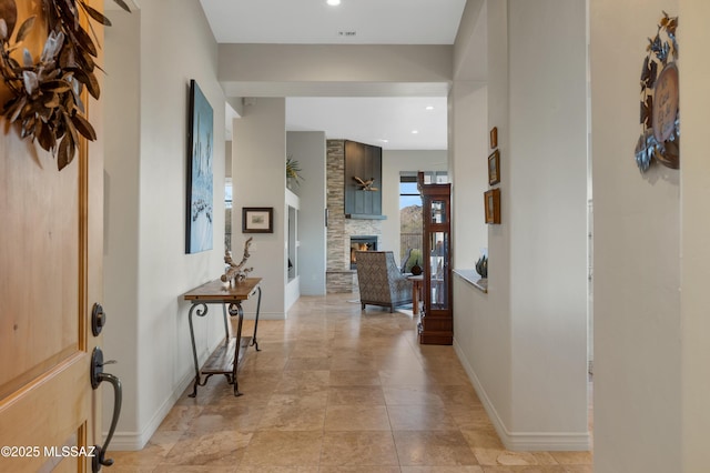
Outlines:
{"type": "Polygon", "coordinates": [[[592,472],[590,452],[506,451],[454,349],[419,345],[410,311],[356,299],[304,296],[260,321],[244,395],[224,376],[190,388],[111,472],[592,472]]]}

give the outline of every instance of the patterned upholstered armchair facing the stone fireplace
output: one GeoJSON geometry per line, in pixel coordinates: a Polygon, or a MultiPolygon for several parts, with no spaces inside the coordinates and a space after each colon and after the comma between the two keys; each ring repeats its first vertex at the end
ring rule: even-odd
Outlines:
{"type": "Polygon", "coordinates": [[[398,305],[412,303],[412,281],[397,268],[392,251],[357,251],[359,302],[382,305],[394,312],[398,305]]]}

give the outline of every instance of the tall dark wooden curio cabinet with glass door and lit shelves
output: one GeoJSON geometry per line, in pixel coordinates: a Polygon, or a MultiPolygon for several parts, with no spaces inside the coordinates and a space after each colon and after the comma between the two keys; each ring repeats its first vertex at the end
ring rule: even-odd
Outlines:
{"type": "Polygon", "coordinates": [[[423,290],[419,343],[454,343],[452,286],[452,184],[425,183],[419,172],[424,220],[423,290]],[[428,261],[427,261],[428,255],[428,261]]]}

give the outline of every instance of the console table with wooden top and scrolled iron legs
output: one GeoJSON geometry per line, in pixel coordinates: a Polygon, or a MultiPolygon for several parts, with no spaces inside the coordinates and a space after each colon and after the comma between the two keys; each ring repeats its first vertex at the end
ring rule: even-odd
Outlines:
{"type": "Polygon", "coordinates": [[[224,374],[230,384],[234,384],[234,395],[240,396],[242,393],[236,381],[236,371],[246,353],[248,346],[258,350],[256,342],[256,328],[258,325],[258,311],[262,304],[262,289],[258,285],[261,278],[247,278],[240,283],[225,283],[221,280],[210,281],[199,288],[186,292],[183,298],[192,303],[187,320],[190,321],[190,340],[192,342],[192,356],[195,364],[195,381],[190,397],[197,395],[197,386],[204,386],[213,374],[224,374]],[[247,300],[252,295],[257,294],[256,301],[256,320],[254,321],[254,334],[252,336],[242,336],[242,322],[244,321],[244,312],[242,310],[242,301],[247,300]],[[195,346],[195,332],[192,322],[192,315],[207,315],[207,304],[221,304],[222,316],[224,318],[224,343],[212,353],[202,370],[197,362],[197,349],[195,346]],[[236,333],[230,336],[230,328],[227,324],[227,312],[230,316],[237,316],[236,333]],[[204,375],[204,380],[202,376],[204,375]]]}

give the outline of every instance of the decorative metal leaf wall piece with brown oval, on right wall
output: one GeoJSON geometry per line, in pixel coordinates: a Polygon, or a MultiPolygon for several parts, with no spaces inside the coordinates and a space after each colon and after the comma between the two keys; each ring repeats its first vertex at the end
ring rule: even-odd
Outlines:
{"type": "Polygon", "coordinates": [[[636,163],[646,172],[656,159],[680,168],[680,114],[678,93],[678,17],[663,11],[653,39],[646,48],[641,68],[641,135],[636,145],[636,163]]]}

